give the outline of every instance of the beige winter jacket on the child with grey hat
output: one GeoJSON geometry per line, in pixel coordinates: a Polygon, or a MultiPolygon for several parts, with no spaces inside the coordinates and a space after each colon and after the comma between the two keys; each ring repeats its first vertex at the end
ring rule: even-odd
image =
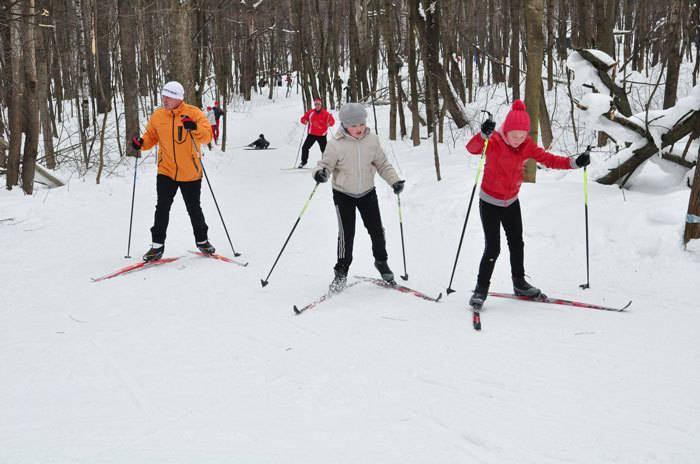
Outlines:
{"type": "Polygon", "coordinates": [[[386,159],[379,137],[367,128],[359,139],[341,127],[328,142],[323,158],[311,175],[321,169],[333,174],[333,188],[350,195],[359,195],[374,188],[374,174],[393,185],[399,180],[393,166],[386,159]]]}

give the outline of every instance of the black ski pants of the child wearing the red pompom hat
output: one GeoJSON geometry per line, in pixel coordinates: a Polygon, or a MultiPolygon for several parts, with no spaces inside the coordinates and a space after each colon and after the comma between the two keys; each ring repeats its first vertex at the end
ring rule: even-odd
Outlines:
{"type": "Polygon", "coordinates": [[[523,219],[520,215],[520,200],[515,200],[510,206],[496,206],[479,200],[481,225],[484,228],[484,254],[479,264],[477,285],[487,287],[491,283],[491,275],[496,265],[496,259],[501,252],[501,225],[506,232],[508,249],[510,251],[510,271],[513,277],[525,277],[523,243],[523,219]]]}

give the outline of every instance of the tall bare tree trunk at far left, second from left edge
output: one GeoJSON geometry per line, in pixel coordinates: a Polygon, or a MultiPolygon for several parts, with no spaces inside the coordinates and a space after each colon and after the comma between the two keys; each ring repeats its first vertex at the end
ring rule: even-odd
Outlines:
{"type": "Polygon", "coordinates": [[[34,36],[36,30],[36,18],[34,17],[34,0],[24,2],[23,14],[26,22],[22,25],[22,47],[24,49],[24,121],[25,133],[24,154],[22,155],[22,190],[27,195],[34,192],[34,165],[39,147],[39,112],[36,111],[37,101],[37,76],[36,54],[34,51],[34,36]]]}

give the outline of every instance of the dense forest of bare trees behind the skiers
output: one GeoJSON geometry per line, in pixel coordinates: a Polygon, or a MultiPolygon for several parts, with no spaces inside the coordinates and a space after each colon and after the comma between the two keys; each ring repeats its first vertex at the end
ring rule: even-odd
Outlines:
{"type": "MultiPolygon", "coordinates": [[[[653,155],[695,166],[697,108],[684,106],[665,125],[657,110],[676,105],[697,83],[698,18],[691,0],[4,2],[0,167],[8,189],[21,179],[27,193],[37,163],[71,164],[80,175],[95,170],[99,183],[105,167],[109,172],[133,155],[125,141],[139,132],[139,114],[159,105],[164,82],[181,81],[188,102],[202,107],[212,97],[226,109],[258,90],[272,99],[289,76],[304,107],[318,97],[337,108],[350,95],[389,105],[391,140],[411,137],[418,145],[421,127],[436,133],[438,180],[438,144],[446,130],[477,128],[479,114],[464,105],[483,89],[502,86],[500,105],[524,99],[539,121],[532,136],[545,147],[554,133],[567,131],[580,149],[574,107],[586,109],[583,86],[611,97],[593,115],[612,123],[593,125],[601,129],[596,145],[608,147],[613,160],[596,180],[624,187],[653,155]],[[572,57],[600,78],[584,81],[583,69],[576,76],[576,67],[567,66],[572,57]],[[692,80],[679,80],[688,73],[692,80]],[[572,78],[579,84],[573,88],[572,78]],[[263,82],[266,89],[259,89],[263,82]],[[548,107],[552,93],[568,94],[569,121],[554,114],[565,109],[548,107]],[[78,121],[77,134],[66,133],[70,120],[78,121]],[[620,138],[616,131],[633,134],[620,138]]],[[[222,140],[225,150],[225,129],[222,140]]],[[[695,182],[689,206],[695,215],[698,189],[695,182]]],[[[698,234],[689,224],[685,241],[698,234]]]]}

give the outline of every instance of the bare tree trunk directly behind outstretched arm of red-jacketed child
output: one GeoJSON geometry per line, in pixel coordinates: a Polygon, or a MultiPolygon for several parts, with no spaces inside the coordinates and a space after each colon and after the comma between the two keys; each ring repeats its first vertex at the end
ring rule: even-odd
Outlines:
{"type": "MultiPolygon", "coordinates": [[[[542,34],[542,0],[525,1],[525,26],[527,28],[527,75],[525,77],[525,107],[530,115],[530,137],[538,143],[538,122],[540,114],[540,92],[542,88],[542,58],[544,55],[544,35],[542,34]]],[[[533,159],[525,163],[525,182],[535,182],[537,162],[533,159]]]]}

